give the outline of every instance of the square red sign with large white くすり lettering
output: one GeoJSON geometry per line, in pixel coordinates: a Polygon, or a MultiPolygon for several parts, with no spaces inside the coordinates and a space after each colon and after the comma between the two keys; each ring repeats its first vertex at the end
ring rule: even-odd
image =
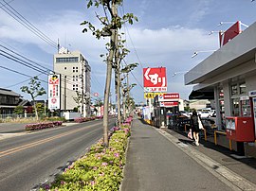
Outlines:
{"type": "Polygon", "coordinates": [[[160,68],[143,68],[144,87],[158,88],[167,87],[166,69],[160,68]]]}

